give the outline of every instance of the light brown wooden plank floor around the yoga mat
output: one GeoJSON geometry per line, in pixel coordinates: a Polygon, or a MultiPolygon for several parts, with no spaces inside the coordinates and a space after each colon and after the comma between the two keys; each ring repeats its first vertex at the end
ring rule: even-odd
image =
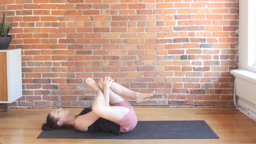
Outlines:
{"type": "MultiPolygon", "coordinates": [[[[1,144],[256,144],[256,122],[233,108],[154,109],[135,108],[139,121],[204,120],[220,139],[36,139],[41,124],[53,109],[0,109],[1,144]]],[[[82,109],[69,109],[78,114],[82,109]]]]}

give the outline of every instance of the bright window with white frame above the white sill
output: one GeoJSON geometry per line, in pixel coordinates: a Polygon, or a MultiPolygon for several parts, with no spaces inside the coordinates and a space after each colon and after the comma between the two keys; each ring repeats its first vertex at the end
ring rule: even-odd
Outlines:
{"type": "Polygon", "coordinates": [[[240,0],[238,30],[238,68],[256,73],[256,0],[240,0]]]}

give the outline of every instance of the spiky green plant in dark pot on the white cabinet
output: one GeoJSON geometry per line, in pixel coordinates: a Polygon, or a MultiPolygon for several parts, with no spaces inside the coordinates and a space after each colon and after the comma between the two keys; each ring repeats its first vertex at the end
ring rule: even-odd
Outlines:
{"type": "Polygon", "coordinates": [[[12,29],[12,22],[7,27],[5,25],[5,14],[2,22],[0,22],[0,49],[8,49],[12,41],[12,36],[8,35],[9,31],[12,29]]]}

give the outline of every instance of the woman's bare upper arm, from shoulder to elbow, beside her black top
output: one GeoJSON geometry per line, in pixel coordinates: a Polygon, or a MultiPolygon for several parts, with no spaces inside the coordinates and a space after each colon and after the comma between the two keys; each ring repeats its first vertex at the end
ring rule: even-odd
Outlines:
{"type": "Polygon", "coordinates": [[[88,127],[99,118],[100,117],[95,115],[93,111],[90,111],[85,115],[78,116],[74,121],[74,127],[76,130],[87,132],[88,127]]]}

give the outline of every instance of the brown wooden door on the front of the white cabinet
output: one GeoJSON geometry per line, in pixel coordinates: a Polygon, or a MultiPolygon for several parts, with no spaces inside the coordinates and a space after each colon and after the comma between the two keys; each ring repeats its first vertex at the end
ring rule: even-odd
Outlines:
{"type": "Polygon", "coordinates": [[[8,101],[6,52],[0,53],[0,101],[8,101]]]}

